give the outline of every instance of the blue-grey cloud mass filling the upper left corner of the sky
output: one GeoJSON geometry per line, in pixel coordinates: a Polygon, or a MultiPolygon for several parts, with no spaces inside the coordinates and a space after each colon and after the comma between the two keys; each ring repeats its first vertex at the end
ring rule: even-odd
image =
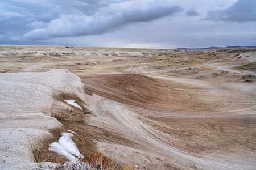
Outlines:
{"type": "Polygon", "coordinates": [[[63,15],[92,16],[102,7],[123,1],[2,0],[0,1],[0,42],[6,42],[6,39],[18,40],[18,37],[22,37],[32,29],[45,28],[49,22],[63,15]]]}

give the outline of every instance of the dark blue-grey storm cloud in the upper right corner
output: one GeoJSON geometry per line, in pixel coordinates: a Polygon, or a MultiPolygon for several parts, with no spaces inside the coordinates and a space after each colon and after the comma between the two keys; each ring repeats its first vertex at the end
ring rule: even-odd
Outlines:
{"type": "Polygon", "coordinates": [[[230,22],[256,21],[256,1],[239,0],[225,10],[209,11],[206,19],[230,22]]]}

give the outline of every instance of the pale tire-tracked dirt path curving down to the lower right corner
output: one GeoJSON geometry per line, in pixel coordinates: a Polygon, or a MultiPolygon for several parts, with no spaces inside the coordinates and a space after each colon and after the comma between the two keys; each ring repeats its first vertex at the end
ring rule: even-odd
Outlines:
{"type": "MultiPolygon", "coordinates": [[[[204,158],[204,156],[180,150],[171,144],[172,142],[167,134],[160,133],[160,131],[144,124],[142,121],[138,120],[137,114],[127,110],[122,104],[115,102],[114,105],[115,110],[112,112],[112,116],[115,120],[118,120],[119,129],[125,130],[120,130],[118,133],[121,133],[123,136],[130,132],[133,133],[133,135],[136,136],[133,140],[144,146],[139,148],[141,150],[146,150],[161,156],[170,156],[175,161],[182,163],[193,162],[203,169],[241,169],[245,167],[247,169],[253,169],[250,165],[244,165],[234,161],[230,163],[230,160],[207,159],[204,158]]],[[[117,124],[115,124],[115,126],[117,126],[117,124]]],[[[105,127],[112,128],[112,130],[114,129],[113,124],[108,124],[108,126],[105,125],[105,127]]]]}

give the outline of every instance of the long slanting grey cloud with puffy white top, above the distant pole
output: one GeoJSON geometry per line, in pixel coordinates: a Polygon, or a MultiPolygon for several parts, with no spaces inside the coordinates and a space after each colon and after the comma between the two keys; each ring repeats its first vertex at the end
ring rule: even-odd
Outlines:
{"type": "Polygon", "coordinates": [[[61,15],[60,18],[51,20],[47,27],[34,29],[26,33],[23,38],[40,40],[49,37],[98,35],[111,32],[127,23],[148,22],[179,11],[181,11],[179,6],[154,2],[148,6],[119,11],[114,15],[61,15]]]}

